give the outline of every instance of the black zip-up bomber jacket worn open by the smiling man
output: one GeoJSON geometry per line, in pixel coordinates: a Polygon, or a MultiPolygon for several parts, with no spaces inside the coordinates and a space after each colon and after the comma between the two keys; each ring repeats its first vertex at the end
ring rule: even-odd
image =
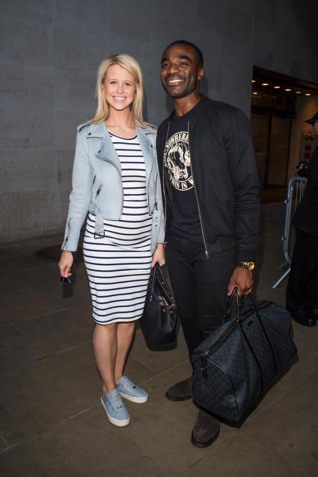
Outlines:
{"type": "MultiPolygon", "coordinates": [[[[159,126],[157,153],[166,231],[172,185],[163,166],[170,116],[159,126]]],[[[201,95],[188,122],[194,188],[206,255],[237,246],[238,260],[254,260],[259,228],[259,181],[247,117],[229,104],[201,95]]]]}

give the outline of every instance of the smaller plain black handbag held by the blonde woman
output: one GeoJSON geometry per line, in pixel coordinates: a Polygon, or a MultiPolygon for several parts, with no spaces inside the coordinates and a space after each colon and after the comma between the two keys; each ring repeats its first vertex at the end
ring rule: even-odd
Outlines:
{"type": "Polygon", "coordinates": [[[139,323],[150,348],[176,340],[177,309],[158,263],[151,271],[145,308],[139,323]]]}

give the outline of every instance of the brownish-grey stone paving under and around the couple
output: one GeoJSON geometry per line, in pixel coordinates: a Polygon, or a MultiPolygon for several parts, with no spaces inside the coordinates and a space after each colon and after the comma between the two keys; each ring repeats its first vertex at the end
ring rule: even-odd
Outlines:
{"type": "MultiPolygon", "coordinates": [[[[262,207],[256,295],[284,305],[282,204],[262,207]]],[[[177,349],[150,351],[140,329],[126,372],[149,393],[128,403],[131,423],[111,425],[100,405],[92,355],[90,295],[80,253],[72,287],[58,283],[61,237],[0,250],[0,476],[301,477],[318,475],[318,327],[294,323],[299,360],[240,425],[197,449],[197,409],[166,389],[191,369],[182,333],[177,349]]]]}

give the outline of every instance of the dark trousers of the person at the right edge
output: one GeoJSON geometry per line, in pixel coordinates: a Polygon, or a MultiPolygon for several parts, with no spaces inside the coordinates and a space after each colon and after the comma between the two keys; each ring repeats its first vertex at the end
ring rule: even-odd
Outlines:
{"type": "Polygon", "coordinates": [[[318,237],[296,229],[296,245],[286,288],[289,310],[318,309],[318,237]]]}

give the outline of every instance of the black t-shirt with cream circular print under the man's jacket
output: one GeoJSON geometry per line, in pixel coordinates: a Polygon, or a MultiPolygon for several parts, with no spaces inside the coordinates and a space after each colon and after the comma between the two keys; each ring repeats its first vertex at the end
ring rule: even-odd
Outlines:
{"type": "Polygon", "coordinates": [[[164,167],[168,171],[173,194],[170,229],[187,239],[203,242],[188,140],[188,121],[196,108],[197,105],[183,116],[171,117],[164,148],[164,167]]]}

